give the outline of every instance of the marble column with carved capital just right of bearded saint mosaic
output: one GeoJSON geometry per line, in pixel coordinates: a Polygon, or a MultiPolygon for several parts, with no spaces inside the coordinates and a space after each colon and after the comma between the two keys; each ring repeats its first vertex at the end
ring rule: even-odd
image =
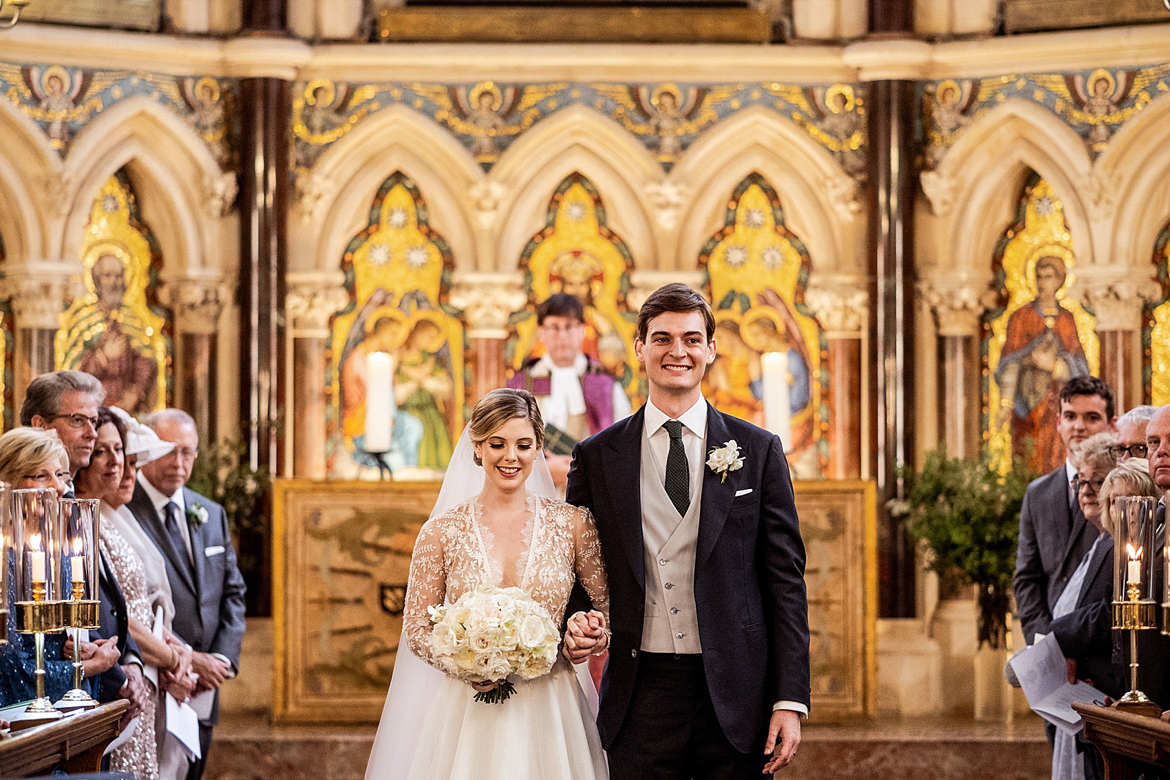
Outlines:
{"type": "Polygon", "coordinates": [[[227,292],[219,279],[171,279],[163,298],[174,313],[174,400],[176,407],[195,419],[199,440],[212,444],[218,439],[219,325],[227,292]]]}

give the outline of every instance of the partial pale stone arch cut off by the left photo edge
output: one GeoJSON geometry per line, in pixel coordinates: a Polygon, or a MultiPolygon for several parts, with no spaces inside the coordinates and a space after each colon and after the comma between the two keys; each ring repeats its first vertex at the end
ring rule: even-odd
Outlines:
{"type": "Polygon", "coordinates": [[[27,264],[47,260],[51,235],[53,192],[63,168],[61,158],[32,119],[11,102],[0,101],[0,237],[6,262],[27,264]],[[39,207],[39,205],[41,207],[39,207]]]}

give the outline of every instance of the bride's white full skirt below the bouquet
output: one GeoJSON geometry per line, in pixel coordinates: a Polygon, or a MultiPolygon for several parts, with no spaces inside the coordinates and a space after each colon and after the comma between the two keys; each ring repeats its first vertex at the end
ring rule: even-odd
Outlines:
{"type": "Polygon", "coordinates": [[[564,658],[534,681],[514,678],[501,704],[445,677],[422,724],[410,780],[606,780],[593,713],[564,658]]]}

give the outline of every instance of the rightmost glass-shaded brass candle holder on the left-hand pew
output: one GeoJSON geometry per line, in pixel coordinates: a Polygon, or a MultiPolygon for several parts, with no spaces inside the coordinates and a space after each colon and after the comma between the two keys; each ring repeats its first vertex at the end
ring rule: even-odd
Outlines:
{"type": "Polygon", "coordinates": [[[98,622],[98,499],[62,498],[62,541],[68,553],[69,571],[62,581],[62,593],[69,599],[62,603],[64,624],[73,630],[74,686],[54,706],[62,711],[88,710],[97,706],[94,697],[82,688],[84,668],[81,663],[82,629],[99,628],[98,622]]]}

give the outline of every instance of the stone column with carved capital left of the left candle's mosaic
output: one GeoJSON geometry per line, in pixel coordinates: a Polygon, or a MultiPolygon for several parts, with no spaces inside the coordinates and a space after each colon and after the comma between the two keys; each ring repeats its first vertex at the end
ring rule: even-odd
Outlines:
{"type": "Polygon", "coordinates": [[[324,479],[325,354],[330,319],[345,308],[349,294],[340,271],[289,274],[284,310],[292,338],[292,476],[324,479]]]}

